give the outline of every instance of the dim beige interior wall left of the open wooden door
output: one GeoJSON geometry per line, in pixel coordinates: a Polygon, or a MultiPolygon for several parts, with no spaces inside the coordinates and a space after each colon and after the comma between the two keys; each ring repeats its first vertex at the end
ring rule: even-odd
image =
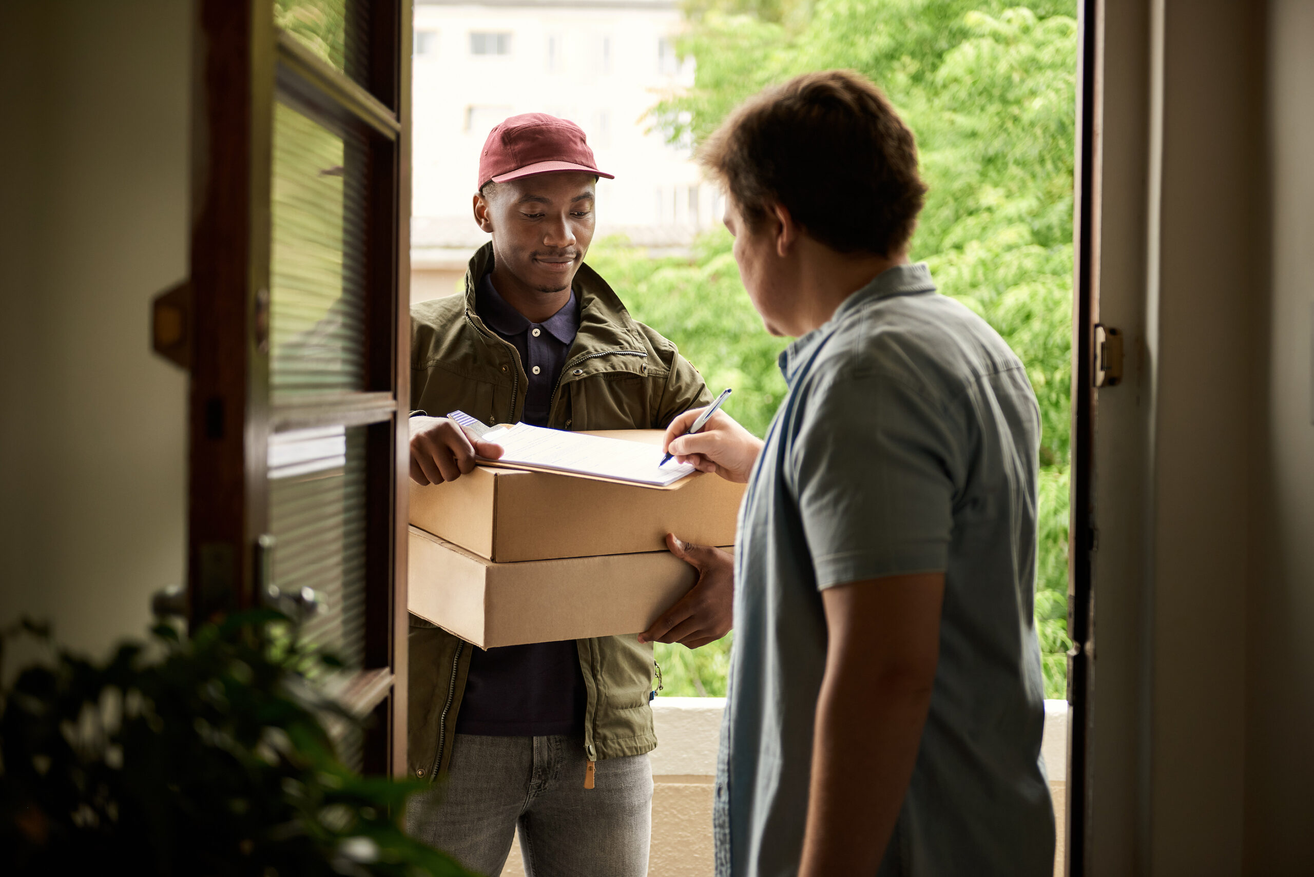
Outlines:
{"type": "Polygon", "coordinates": [[[192,5],[0,4],[0,624],[100,651],[184,575],[192,5]]]}

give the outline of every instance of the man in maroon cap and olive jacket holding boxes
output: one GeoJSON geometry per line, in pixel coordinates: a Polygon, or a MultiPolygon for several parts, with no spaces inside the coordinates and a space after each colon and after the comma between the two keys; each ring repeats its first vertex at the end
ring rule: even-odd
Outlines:
{"type": "MultiPolygon", "coordinates": [[[[541,113],[487,137],[474,222],[493,235],[465,294],[411,309],[411,478],[460,478],[476,454],[443,415],[555,429],[652,429],[711,400],[675,345],[636,322],[583,264],[595,167],[585,133],[541,113]]],[[[555,515],[569,520],[562,504],[555,515]]],[[[704,551],[673,550],[699,562],[704,551]]],[[[666,616],[664,642],[699,646],[731,626],[731,583],[702,583],[666,616]],[[678,637],[678,639],[675,638],[678,637]]],[[[411,834],[498,874],[519,826],[528,873],[648,873],[652,641],[600,637],[482,650],[411,616],[410,772],[434,780],[411,834]]]]}

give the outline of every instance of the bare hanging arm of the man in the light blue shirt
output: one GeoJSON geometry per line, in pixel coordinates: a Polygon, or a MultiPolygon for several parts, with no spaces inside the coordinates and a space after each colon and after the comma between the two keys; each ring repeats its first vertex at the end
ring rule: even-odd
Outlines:
{"type": "Polygon", "coordinates": [[[943,593],[943,572],[821,592],[829,642],[799,877],[876,873],[917,760],[943,593]]]}

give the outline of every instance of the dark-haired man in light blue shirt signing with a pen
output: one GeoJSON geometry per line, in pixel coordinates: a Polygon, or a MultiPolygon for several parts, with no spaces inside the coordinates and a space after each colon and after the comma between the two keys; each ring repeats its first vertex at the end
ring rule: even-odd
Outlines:
{"type": "Polygon", "coordinates": [[[1039,411],[995,330],[908,261],[912,133],[829,71],[750,98],[700,158],[749,298],[798,339],[765,444],[725,414],[666,432],[749,484],[717,877],[1051,874],[1039,411]]]}

